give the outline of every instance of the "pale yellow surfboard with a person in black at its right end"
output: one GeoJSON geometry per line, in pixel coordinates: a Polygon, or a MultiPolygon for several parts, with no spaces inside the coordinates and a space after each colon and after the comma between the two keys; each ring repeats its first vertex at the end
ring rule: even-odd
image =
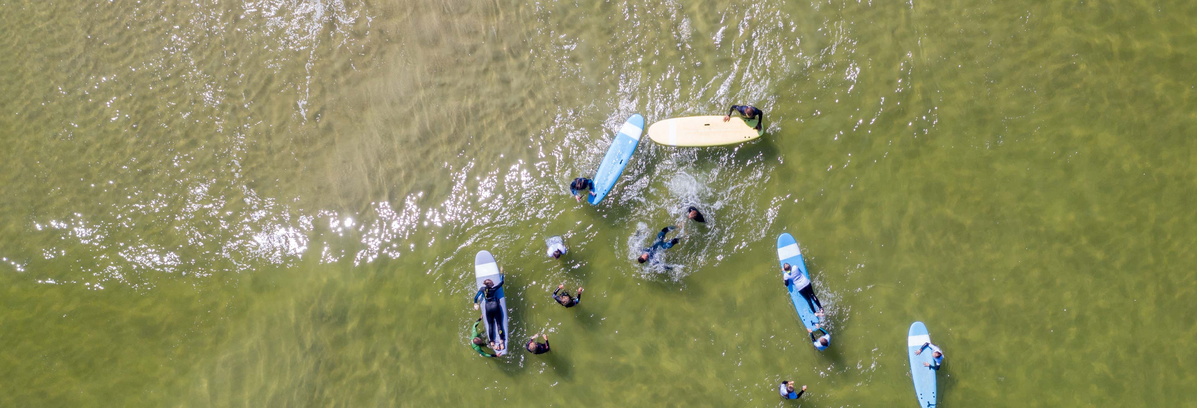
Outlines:
{"type": "Polygon", "coordinates": [[[649,139],[658,145],[675,147],[734,145],[765,134],[764,129],[753,129],[754,126],[757,120],[745,122],[740,117],[731,117],[727,122],[723,116],[674,117],[652,123],[649,127],[649,139]]]}

